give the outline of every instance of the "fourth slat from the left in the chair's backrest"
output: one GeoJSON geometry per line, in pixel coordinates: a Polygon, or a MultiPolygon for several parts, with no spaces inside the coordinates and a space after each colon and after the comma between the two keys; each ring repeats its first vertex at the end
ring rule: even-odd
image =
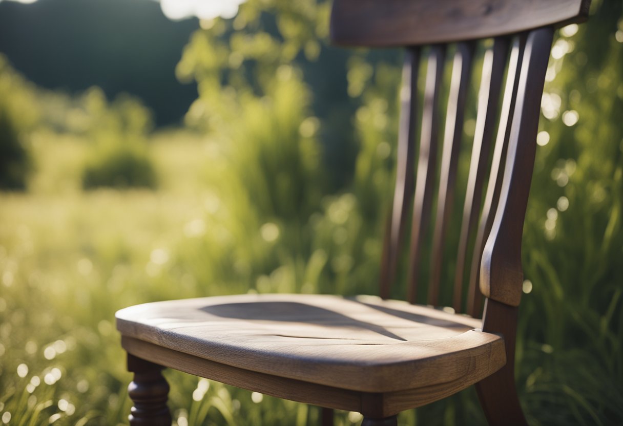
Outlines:
{"type": "MultiPolygon", "coordinates": [[[[491,140],[493,138],[493,128],[498,116],[498,102],[500,100],[500,88],[502,87],[504,70],[506,68],[506,59],[508,58],[508,45],[509,40],[507,37],[498,37],[495,39],[493,47],[485,52],[482,65],[476,128],[472,146],[472,159],[470,161],[469,176],[467,178],[463,221],[455,268],[454,302],[452,304],[455,312],[462,311],[463,277],[465,257],[467,256],[468,250],[467,245],[473,229],[477,224],[478,212],[480,211],[482,185],[487,168],[491,140]]],[[[480,250],[480,252],[482,253],[482,250],[480,250]]]]}

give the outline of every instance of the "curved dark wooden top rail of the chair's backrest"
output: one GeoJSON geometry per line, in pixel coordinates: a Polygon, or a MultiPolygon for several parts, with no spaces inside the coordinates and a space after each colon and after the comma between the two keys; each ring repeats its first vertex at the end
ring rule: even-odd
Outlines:
{"type": "Polygon", "coordinates": [[[581,22],[589,0],[334,0],[331,40],[353,46],[457,42],[581,22]]]}

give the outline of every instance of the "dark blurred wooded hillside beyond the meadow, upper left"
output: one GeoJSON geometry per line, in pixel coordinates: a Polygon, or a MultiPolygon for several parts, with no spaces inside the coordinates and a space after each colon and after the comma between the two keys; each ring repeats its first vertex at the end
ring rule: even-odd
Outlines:
{"type": "Polygon", "coordinates": [[[197,97],[175,67],[197,19],[169,21],[151,0],[0,1],[0,53],[40,87],[70,93],[99,86],[153,109],[156,125],[181,122],[197,97]]]}

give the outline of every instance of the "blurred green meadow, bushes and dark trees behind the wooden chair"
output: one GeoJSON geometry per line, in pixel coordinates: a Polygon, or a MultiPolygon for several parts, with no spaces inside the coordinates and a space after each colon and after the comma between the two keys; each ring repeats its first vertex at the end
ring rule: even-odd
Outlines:
{"type": "MultiPolygon", "coordinates": [[[[377,293],[402,54],[331,47],[329,14],[323,0],[0,0],[0,422],[125,424],[125,306],[377,293]]],[[[532,425],[619,425],[622,1],[556,32],[541,112],[518,390],[532,425]]],[[[166,375],[178,426],[318,420],[166,375]]],[[[485,424],[473,389],[399,421],[485,424]]]]}

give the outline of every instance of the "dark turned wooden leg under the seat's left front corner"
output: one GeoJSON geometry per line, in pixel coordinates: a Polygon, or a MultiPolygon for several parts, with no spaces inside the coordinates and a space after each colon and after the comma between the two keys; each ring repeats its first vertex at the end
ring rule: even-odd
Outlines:
{"type": "Polygon", "coordinates": [[[128,354],[128,371],[134,380],[128,394],[134,402],[130,426],[171,426],[171,412],[166,405],[169,384],[162,375],[163,366],[128,354]]]}

